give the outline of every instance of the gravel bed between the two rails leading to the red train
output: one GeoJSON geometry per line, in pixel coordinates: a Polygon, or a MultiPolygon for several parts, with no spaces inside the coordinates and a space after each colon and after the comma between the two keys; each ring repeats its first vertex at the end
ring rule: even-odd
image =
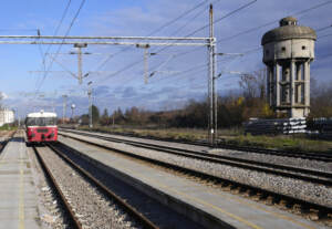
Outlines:
{"type": "Polygon", "coordinates": [[[52,150],[44,148],[40,153],[73,206],[83,228],[141,228],[52,150]]]}

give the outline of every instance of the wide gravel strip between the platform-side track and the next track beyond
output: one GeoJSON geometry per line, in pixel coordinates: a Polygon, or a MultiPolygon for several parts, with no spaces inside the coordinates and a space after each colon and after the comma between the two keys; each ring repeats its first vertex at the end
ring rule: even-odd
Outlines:
{"type": "Polygon", "coordinates": [[[117,149],[135,153],[137,155],[142,155],[148,158],[167,162],[174,165],[219,176],[225,179],[235,180],[238,183],[260,187],[279,194],[297,197],[307,201],[312,201],[320,205],[332,207],[332,198],[331,198],[332,189],[326,186],[315,185],[315,184],[292,179],[292,178],[284,178],[281,176],[259,173],[255,170],[247,170],[247,169],[231,167],[227,165],[218,165],[215,163],[190,159],[183,156],[175,156],[166,153],[138,148],[125,144],[111,143],[111,142],[95,139],[85,136],[80,136],[80,138],[87,139],[87,140],[93,139],[103,145],[108,145],[117,149]]]}

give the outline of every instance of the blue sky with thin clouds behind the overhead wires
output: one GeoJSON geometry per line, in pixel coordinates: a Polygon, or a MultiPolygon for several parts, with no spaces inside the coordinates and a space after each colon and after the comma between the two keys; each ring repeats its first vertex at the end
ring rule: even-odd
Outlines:
{"type": "MultiPolygon", "coordinates": [[[[257,0],[229,15],[251,1],[12,0],[1,6],[0,35],[35,35],[39,30],[42,35],[206,38],[208,28],[198,29],[208,24],[209,3],[212,3],[217,52],[245,53],[242,56],[218,56],[217,73],[250,73],[263,69],[261,37],[279,27],[281,18],[293,15],[301,25],[325,28],[318,31],[311,76],[318,83],[331,82],[332,0],[289,0],[282,4],[278,0],[257,0]],[[73,21],[80,6],[83,7],[73,21]]],[[[174,110],[189,100],[203,100],[207,95],[207,48],[162,49],[148,49],[157,54],[148,58],[148,74],[155,74],[146,84],[143,49],[89,45],[83,49],[83,52],[91,53],[83,55],[83,74],[89,73],[89,76],[80,85],[69,73],[77,73],[77,56],[69,54],[76,51],[73,45],[1,44],[2,104],[18,111],[20,116],[39,110],[54,110],[62,116],[62,95],[65,94],[66,116],[71,115],[71,104],[76,105],[75,115],[84,114],[87,113],[90,81],[93,103],[101,111],[107,108],[108,113],[132,106],[152,111],[174,110]],[[44,70],[49,70],[48,73],[44,70]]],[[[238,92],[238,75],[222,74],[217,82],[218,93],[238,92]]]]}

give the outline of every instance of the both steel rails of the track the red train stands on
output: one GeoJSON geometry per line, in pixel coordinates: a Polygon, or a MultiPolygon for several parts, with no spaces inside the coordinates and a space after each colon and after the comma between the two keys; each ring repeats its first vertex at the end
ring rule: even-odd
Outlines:
{"type": "MultiPolygon", "coordinates": [[[[126,214],[128,214],[132,218],[135,219],[136,222],[141,225],[143,228],[149,228],[149,229],[157,229],[158,227],[154,225],[152,221],[149,221],[146,217],[144,217],[141,212],[138,212],[136,209],[134,209],[132,206],[129,206],[126,200],[118,197],[116,194],[114,194],[112,190],[110,190],[106,186],[104,186],[102,183],[100,183],[97,179],[95,179],[89,171],[81,168],[76,163],[71,160],[68,156],[65,156],[59,148],[52,145],[46,145],[53,153],[55,153],[59,157],[61,157],[70,167],[72,167],[75,171],[77,171],[84,179],[89,180],[89,183],[95,187],[97,190],[103,192],[103,195],[106,196],[106,198],[112,199],[112,201],[116,202],[117,206],[120,206],[122,209],[125,210],[126,214]]],[[[69,217],[69,223],[70,228],[84,228],[82,226],[82,218],[77,217],[80,216],[80,212],[77,212],[77,209],[75,209],[72,206],[72,200],[69,200],[66,198],[65,191],[62,190],[61,186],[56,178],[53,176],[52,169],[49,168],[48,163],[43,158],[43,156],[40,154],[40,149],[37,147],[33,147],[33,150],[37,155],[37,158],[39,159],[42,169],[44,170],[46,177],[50,180],[51,186],[54,188],[55,192],[59,196],[59,199],[62,202],[62,206],[66,212],[66,216],[69,217]]]]}

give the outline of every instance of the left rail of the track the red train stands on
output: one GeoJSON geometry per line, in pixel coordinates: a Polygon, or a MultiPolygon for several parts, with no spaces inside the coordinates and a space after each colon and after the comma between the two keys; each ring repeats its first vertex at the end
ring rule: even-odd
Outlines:
{"type": "Polygon", "coordinates": [[[82,225],[79,221],[79,219],[76,218],[73,209],[71,208],[71,205],[69,204],[69,201],[66,200],[65,196],[63,195],[61,188],[59,187],[55,178],[53,177],[51,170],[49,169],[49,167],[46,166],[44,159],[41,157],[40,153],[37,150],[37,148],[33,146],[33,150],[34,154],[45,174],[45,176],[48,177],[48,180],[50,181],[51,186],[53,187],[53,189],[55,190],[58,197],[60,198],[62,205],[64,206],[64,210],[66,211],[69,218],[70,218],[70,225],[71,228],[75,228],[75,229],[82,229],[82,225]]]}

